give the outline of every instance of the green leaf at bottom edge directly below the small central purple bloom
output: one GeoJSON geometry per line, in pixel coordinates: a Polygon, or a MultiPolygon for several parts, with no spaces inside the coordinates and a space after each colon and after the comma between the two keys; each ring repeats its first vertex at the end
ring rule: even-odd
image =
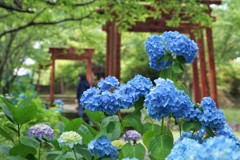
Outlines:
{"type": "Polygon", "coordinates": [[[145,157],[145,147],[141,144],[135,144],[131,145],[130,143],[125,144],[122,147],[122,153],[125,158],[138,158],[138,159],[144,159],[145,157]]]}

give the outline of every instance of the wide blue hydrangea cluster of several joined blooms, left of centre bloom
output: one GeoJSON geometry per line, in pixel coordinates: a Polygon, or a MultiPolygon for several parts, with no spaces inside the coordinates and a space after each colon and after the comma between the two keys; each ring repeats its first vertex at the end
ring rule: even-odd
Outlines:
{"type": "Polygon", "coordinates": [[[99,88],[93,87],[85,91],[80,101],[84,108],[90,111],[102,111],[108,115],[115,114],[121,108],[133,106],[152,87],[150,79],[140,75],[120,86],[115,77],[107,77],[101,82],[99,88]]]}

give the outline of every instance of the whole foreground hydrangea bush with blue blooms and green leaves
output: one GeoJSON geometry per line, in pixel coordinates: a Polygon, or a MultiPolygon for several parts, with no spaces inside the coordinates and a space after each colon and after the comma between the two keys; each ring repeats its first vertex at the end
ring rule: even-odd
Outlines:
{"type": "Polygon", "coordinates": [[[40,155],[44,159],[240,159],[239,140],[223,111],[211,97],[194,103],[176,78],[181,77],[183,65],[196,58],[196,43],[178,32],[165,32],[150,36],[145,47],[149,65],[160,72],[160,78],[151,81],[136,75],[121,84],[108,76],[85,91],[81,106],[94,126],[81,118],[62,117],[51,125],[58,134],[53,136],[52,128],[37,124],[26,135],[22,126],[34,120],[34,105],[29,107],[28,98],[20,107],[0,98],[5,116],[17,128],[15,139],[0,128],[0,134],[13,142],[0,146],[0,152],[4,148],[7,157],[25,159],[37,155],[38,159],[40,155]],[[123,110],[128,114],[123,115],[123,110]],[[175,140],[172,120],[180,132],[175,140]]]}

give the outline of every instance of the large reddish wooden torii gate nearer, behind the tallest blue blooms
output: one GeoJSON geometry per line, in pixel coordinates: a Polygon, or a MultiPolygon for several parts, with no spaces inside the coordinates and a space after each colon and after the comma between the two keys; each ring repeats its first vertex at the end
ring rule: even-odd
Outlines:
{"type": "MultiPolygon", "coordinates": [[[[202,0],[202,3],[208,5],[209,15],[211,14],[211,4],[221,4],[221,0],[202,0]]],[[[168,27],[166,20],[170,19],[171,15],[162,15],[160,19],[147,18],[145,22],[137,22],[128,30],[129,32],[165,32],[178,31],[180,33],[189,34],[191,39],[194,39],[199,47],[198,58],[192,63],[193,72],[193,97],[195,102],[200,102],[202,97],[211,96],[217,103],[217,84],[216,71],[214,62],[214,48],[211,28],[201,28],[200,25],[189,22],[181,22],[178,27],[168,27]],[[201,33],[198,39],[191,32],[192,29],[202,29],[206,31],[207,49],[204,49],[204,34],[201,33]],[[208,54],[208,78],[205,62],[205,51],[208,54]],[[200,74],[198,71],[198,61],[200,61],[200,74]],[[199,79],[200,75],[200,79],[199,79]],[[209,82],[209,83],[208,83],[209,82]],[[208,84],[210,92],[208,91],[208,84]]],[[[213,17],[214,19],[214,17],[213,17]]],[[[107,56],[105,75],[112,75],[120,79],[120,60],[121,60],[121,34],[118,32],[118,27],[115,21],[107,22],[103,30],[107,32],[107,56]]]]}

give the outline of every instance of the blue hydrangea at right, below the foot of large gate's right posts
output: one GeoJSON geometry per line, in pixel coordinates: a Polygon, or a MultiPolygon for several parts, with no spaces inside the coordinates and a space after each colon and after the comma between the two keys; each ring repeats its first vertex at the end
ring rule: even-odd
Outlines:
{"type": "Polygon", "coordinates": [[[203,126],[208,126],[213,130],[224,128],[226,119],[223,111],[216,108],[216,104],[212,98],[203,98],[200,106],[202,107],[204,113],[199,115],[199,121],[203,126]]]}

